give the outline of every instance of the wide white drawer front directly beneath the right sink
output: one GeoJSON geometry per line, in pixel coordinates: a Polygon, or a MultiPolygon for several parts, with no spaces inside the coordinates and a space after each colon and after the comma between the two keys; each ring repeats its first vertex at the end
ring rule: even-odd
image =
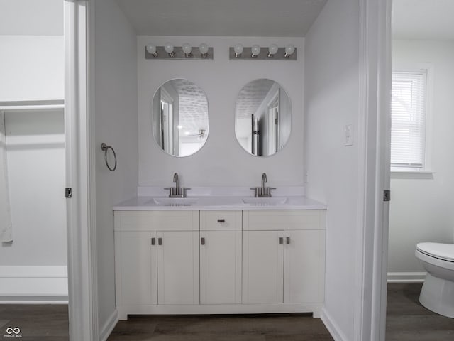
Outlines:
{"type": "Polygon", "coordinates": [[[244,230],[325,229],[325,210],[243,211],[244,230]]]}

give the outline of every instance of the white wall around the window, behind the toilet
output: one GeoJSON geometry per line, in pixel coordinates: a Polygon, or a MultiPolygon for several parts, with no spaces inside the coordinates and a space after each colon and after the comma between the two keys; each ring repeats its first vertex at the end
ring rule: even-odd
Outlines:
{"type": "Polygon", "coordinates": [[[433,178],[391,180],[389,272],[423,271],[418,242],[453,243],[454,41],[394,40],[393,63],[433,63],[433,178]]]}

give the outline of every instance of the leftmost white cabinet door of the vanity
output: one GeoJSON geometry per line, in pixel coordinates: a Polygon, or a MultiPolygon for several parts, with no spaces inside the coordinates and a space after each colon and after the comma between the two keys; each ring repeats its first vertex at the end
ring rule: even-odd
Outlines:
{"type": "Polygon", "coordinates": [[[117,304],[157,304],[156,232],[115,232],[117,304]]]}

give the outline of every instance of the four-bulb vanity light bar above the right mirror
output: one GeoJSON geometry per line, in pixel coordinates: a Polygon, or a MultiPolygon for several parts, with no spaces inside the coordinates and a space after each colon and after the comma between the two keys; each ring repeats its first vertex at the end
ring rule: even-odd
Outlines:
{"type": "Polygon", "coordinates": [[[285,48],[278,48],[272,44],[270,47],[253,45],[250,48],[243,48],[242,45],[235,45],[228,48],[229,60],[297,60],[297,48],[287,45],[285,48]]]}

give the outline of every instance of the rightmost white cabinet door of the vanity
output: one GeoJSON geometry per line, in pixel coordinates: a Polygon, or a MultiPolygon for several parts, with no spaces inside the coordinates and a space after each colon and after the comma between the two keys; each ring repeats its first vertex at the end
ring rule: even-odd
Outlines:
{"type": "Polygon", "coordinates": [[[323,302],[325,232],[285,232],[284,303],[323,302]]]}

